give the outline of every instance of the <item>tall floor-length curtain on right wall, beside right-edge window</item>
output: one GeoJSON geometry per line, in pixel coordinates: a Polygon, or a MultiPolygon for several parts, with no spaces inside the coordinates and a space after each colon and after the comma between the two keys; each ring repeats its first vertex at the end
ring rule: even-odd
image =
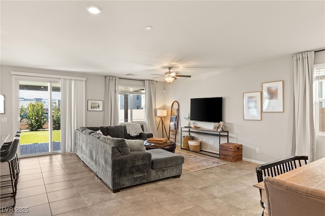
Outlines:
{"type": "Polygon", "coordinates": [[[291,153],[315,159],[315,128],[313,116],[314,52],[294,55],[293,125],[291,153]]]}

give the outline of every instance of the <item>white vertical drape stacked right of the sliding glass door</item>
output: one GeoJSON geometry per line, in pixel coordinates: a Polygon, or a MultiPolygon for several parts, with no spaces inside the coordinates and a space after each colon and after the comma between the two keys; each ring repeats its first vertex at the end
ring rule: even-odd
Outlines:
{"type": "Polygon", "coordinates": [[[85,126],[85,81],[61,79],[61,152],[75,152],[74,132],[85,126]]]}

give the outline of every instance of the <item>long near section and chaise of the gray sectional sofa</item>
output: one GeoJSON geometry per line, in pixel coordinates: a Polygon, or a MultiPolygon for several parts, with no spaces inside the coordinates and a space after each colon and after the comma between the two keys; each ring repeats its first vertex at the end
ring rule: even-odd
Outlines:
{"type": "Polygon", "coordinates": [[[80,159],[114,193],[128,186],[180,177],[183,156],[162,149],[147,151],[143,140],[105,136],[105,130],[107,135],[113,135],[109,133],[112,128],[108,127],[99,127],[99,132],[95,132],[98,131],[97,127],[80,127],[75,130],[75,150],[80,159]]]}

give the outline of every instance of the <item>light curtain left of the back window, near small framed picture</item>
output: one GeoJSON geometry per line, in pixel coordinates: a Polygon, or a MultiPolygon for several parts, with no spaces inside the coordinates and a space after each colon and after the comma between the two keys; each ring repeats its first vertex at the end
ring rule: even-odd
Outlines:
{"type": "Polygon", "coordinates": [[[106,77],[104,126],[118,125],[118,77],[106,77]]]}

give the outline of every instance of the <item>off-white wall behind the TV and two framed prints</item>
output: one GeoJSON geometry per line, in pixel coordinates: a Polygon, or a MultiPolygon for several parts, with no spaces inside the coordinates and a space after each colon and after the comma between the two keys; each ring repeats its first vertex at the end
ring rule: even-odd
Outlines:
{"type": "MultiPolygon", "coordinates": [[[[169,95],[166,102],[169,104],[173,100],[179,101],[181,125],[185,126],[184,117],[190,112],[190,98],[223,97],[224,129],[230,132],[230,142],[243,145],[243,158],[246,160],[273,161],[290,156],[292,71],[292,57],[286,56],[211,73],[210,76],[178,79],[170,85],[166,84],[170,86],[166,88],[169,95]],[[284,81],[284,112],[262,113],[262,121],[243,120],[243,93],[262,91],[262,83],[280,80],[284,81]],[[255,152],[256,148],[259,148],[259,153],[255,152]]],[[[199,73],[200,70],[197,74],[199,73]]],[[[202,128],[213,127],[212,123],[194,124],[202,128]]],[[[212,138],[207,136],[207,139],[212,138]]],[[[321,141],[319,137],[318,140],[321,141]]],[[[177,142],[179,145],[180,135],[177,142]]],[[[322,152],[318,152],[317,158],[325,157],[323,145],[317,144],[319,152],[322,152]]]]}

